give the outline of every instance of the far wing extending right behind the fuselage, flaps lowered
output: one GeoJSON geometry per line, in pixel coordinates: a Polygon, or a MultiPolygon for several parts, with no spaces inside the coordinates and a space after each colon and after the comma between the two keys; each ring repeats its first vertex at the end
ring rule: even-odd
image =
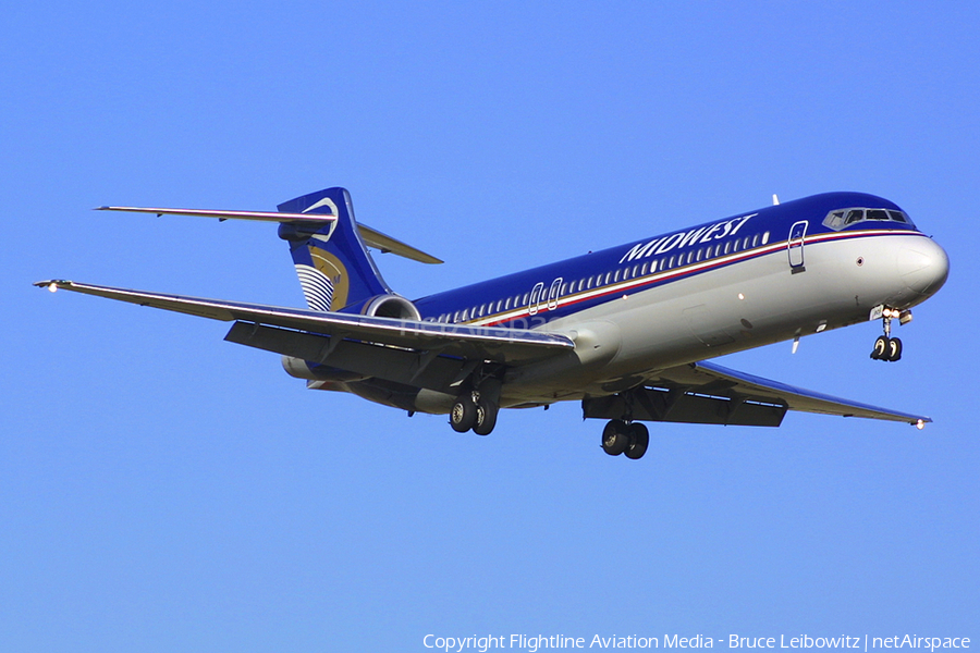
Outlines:
{"type": "MultiPolygon", "coordinates": [[[[652,374],[633,393],[634,419],[688,423],[777,427],[787,410],[863,417],[921,426],[923,415],[869,406],[779,381],[738,372],[713,362],[694,362],[652,374]]],[[[618,396],[583,404],[586,417],[624,415],[618,396]]]]}

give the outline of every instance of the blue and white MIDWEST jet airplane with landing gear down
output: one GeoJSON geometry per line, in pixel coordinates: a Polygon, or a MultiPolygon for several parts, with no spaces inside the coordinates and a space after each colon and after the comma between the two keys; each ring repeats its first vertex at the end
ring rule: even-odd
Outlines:
{"type": "Polygon", "coordinates": [[[368,247],[438,258],[357,222],[327,188],[278,211],[99,210],[275,222],[307,307],[149,293],[64,280],[35,285],[233,322],[224,340],[281,355],[314,390],[489,434],[501,408],[580,402],[608,420],[601,446],[638,459],[642,422],[779,427],[788,410],[915,424],[879,408],[724,368],[709,359],[881,320],[871,358],[897,361],[894,320],[945,283],[943,248],[895,204],[825,193],[409,300],[368,247]]]}

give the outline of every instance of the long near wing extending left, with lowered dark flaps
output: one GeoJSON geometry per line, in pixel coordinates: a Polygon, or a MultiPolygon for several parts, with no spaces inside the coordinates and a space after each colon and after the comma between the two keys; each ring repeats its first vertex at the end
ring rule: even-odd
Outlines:
{"type": "Polygon", "coordinates": [[[433,390],[452,386],[480,361],[528,362],[575,347],[565,335],[539,331],[281,308],[62,280],[34,285],[235,321],[225,337],[231,342],[433,390]]]}

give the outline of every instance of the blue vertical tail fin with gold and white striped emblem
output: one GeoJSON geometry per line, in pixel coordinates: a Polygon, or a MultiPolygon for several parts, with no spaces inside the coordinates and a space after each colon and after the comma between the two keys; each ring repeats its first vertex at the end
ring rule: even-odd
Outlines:
{"type": "Polygon", "coordinates": [[[391,293],[360,238],[346,188],[318,190],[278,208],[281,213],[336,218],[324,225],[284,222],[279,227],[279,236],[290,243],[296,274],[311,310],[340,310],[391,293]]]}

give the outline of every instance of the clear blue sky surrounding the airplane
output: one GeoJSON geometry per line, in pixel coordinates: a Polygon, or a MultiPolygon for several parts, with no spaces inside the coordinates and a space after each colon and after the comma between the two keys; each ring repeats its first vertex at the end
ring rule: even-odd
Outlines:
{"type": "Polygon", "coordinates": [[[32,2],[0,41],[0,650],[424,651],[426,633],[980,639],[975,2],[32,2]],[[825,190],[948,251],[899,329],[723,361],[922,411],[489,438],[309,392],[226,324],[64,278],[301,306],[327,186],[445,259],[409,297],[825,190]]]}

